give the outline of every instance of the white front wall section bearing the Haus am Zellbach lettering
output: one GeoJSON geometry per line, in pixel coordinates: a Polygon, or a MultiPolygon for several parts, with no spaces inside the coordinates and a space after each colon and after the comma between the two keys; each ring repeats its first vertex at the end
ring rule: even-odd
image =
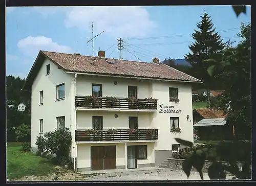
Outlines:
{"type": "MultiPolygon", "coordinates": [[[[191,84],[178,82],[153,82],[152,97],[158,99],[158,108],[152,119],[152,127],[159,128],[158,142],[155,150],[170,150],[172,144],[178,144],[175,137],[180,137],[193,142],[193,108],[191,97],[191,84]],[[179,103],[169,102],[169,87],[178,88],[179,103]],[[181,110],[181,113],[160,113],[159,105],[174,106],[169,108],[181,110]],[[189,115],[187,121],[186,116],[189,115]],[[181,133],[170,132],[170,117],[179,117],[179,126],[181,133]]],[[[162,108],[165,110],[165,108],[162,108]]]]}

